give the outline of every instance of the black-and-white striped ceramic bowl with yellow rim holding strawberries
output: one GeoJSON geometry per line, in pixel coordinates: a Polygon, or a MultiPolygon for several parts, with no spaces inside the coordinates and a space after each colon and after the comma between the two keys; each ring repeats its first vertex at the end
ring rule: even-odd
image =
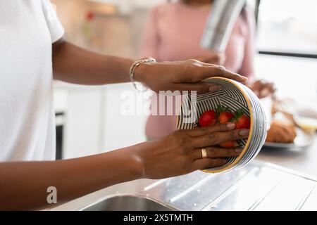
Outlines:
{"type": "Polygon", "coordinates": [[[244,110],[244,114],[251,120],[248,139],[237,140],[244,148],[237,157],[228,158],[222,167],[203,169],[204,172],[224,172],[238,169],[247,165],[261,150],[266,139],[266,114],[259,98],[247,86],[223,77],[211,77],[204,82],[222,86],[220,91],[207,94],[189,94],[183,98],[180,115],[178,115],[178,129],[193,129],[197,127],[199,117],[207,110],[215,110],[218,105],[230,108],[232,111],[244,110]]]}

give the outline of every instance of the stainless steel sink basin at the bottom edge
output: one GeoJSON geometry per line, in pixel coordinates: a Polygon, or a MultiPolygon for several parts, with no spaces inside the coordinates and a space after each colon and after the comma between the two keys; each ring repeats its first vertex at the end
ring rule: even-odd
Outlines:
{"type": "Polygon", "coordinates": [[[82,211],[175,211],[173,207],[142,195],[112,195],[82,211]]]}

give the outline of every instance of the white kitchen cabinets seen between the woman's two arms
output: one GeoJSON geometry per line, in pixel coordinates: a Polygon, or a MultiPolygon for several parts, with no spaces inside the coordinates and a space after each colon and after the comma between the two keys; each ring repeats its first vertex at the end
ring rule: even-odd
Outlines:
{"type": "Polygon", "coordinates": [[[133,95],[132,105],[142,103],[142,99],[137,100],[136,91],[130,83],[108,86],[56,83],[55,96],[59,98],[55,99],[55,103],[65,103],[62,110],[64,159],[102,153],[145,141],[147,116],[121,113],[121,105],[126,101],[122,97],[123,91],[133,95]]]}

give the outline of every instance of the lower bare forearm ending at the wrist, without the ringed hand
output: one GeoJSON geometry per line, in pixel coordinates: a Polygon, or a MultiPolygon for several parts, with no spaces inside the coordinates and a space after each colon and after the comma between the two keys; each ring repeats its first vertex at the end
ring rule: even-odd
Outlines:
{"type": "Polygon", "coordinates": [[[54,186],[57,203],[106,186],[139,179],[142,160],[132,146],[99,155],[49,162],[0,163],[0,210],[49,207],[47,188],[54,186]],[[30,208],[32,206],[32,208],[30,208]]]}

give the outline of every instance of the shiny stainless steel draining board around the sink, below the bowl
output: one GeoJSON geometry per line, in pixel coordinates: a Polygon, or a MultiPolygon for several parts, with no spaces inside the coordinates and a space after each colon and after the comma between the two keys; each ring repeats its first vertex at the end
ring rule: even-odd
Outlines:
{"type": "Polygon", "coordinates": [[[236,171],[141,179],[96,191],[51,210],[83,210],[109,195],[143,195],[177,210],[317,210],[317,179],[254,160],[236,171]]]}

